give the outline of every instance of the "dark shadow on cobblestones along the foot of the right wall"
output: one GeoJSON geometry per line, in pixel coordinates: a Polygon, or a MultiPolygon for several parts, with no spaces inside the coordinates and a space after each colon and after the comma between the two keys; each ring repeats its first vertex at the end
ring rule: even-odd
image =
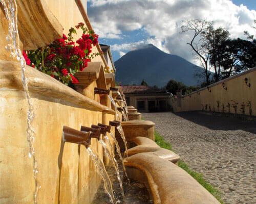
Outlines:
{"type": "Polygon", "coordinates": [[[212,115],[204,115],[198,112],[177,112],[174,113],[186,120],[205,126],[211,130],[243,130],[256,134],[256,124],[253,121],[245,121],[238,118],[218,117],[212,115]]]}

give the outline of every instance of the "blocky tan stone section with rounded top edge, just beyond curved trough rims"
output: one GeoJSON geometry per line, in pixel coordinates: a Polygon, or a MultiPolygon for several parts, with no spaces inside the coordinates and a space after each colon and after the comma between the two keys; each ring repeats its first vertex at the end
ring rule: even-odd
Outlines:
{"type": "Polygon", "coordinates": [[[146,137],[155,141],[155,123],[149,120],[130,120],[121,122],[125,138],[146,137]]]}

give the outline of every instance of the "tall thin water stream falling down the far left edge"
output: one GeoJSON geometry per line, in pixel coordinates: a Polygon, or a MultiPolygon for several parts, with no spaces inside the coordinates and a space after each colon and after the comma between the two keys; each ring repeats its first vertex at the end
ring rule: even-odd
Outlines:
{"type": "Polygon", "coordinates": [[[29,157],[33,159],[33,174],[34,174],[34,181],[35,181],[35,190],[33,194],[34,203],[37,203],[36,196],[37,192],[40,189],[40,185],[37,182],[37,173],[38,173],[38,165],[36,161],[35,156],[35,150],[34,150],[34,136],[35,131],[32,127],[32,120],[34,117],[34,109],[32,105],[32,100],[29,95],[28,90],[28,79],[25,76],[25,70],[26,70],[26,61],[23,58],[22,51],[19,48],[19,35],[18,35],[18,25],[17,25],[17,4],[15,0],[0,0],[0,3],[3,5],[5,10],[6,19],[8,21],[8,29],[9,34],[7,36],[7,40],[9,42],[8,46],[6,47],[7,50],[10,50],[11,57],[16,58],[21,65],[22,68],[22,82],[23,87],[25,91],[25,95],[28,102],[28,118],[27,118],[27,141],[29,145],[29,157]]]}

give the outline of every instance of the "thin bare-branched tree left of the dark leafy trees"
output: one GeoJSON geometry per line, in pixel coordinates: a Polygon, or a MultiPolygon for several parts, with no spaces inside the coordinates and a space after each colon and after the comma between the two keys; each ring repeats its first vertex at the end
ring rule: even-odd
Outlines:
{"type": "Polygon", "coordinates": [[[210,55],[207,52],[204,35],[209,27],[211,27],[212,22],[199,19],[186,20],[183,22],[184,25],[181,27],[182,33],[193,32],[193,37],[190,42],[187,42],[187,44],[189,44],[194,50],[195,55],[198,57],[201,65],[204,67],[204,77],[206,84],[208,85],[210,83],[211,66],[209,64],[210,55]]]}

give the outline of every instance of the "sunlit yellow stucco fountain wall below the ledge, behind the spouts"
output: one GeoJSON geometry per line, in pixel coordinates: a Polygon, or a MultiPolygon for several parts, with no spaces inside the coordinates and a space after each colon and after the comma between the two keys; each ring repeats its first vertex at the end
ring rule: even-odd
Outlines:
{"type": "MultiPolygon", "coordinates": [[[[88,110],[61,98],[32,94],[35,110],[35,155],[38,163],[38,203],[90,203],[100,183],[85,147],[65,143],[62,126],[80,130],[81,125],[108,123],[114,115],[88,110]],[[103,117],[102,117],[103,115],[103,117]],[[61,164],[61,169],[59,168],[61,164]]],[[[24,91],[0,90],[0,203],[32,203],[33,160],[27,142],[27,100],[24,91]]],[[[114,130],[113,130],[114,131],[114,130]]],[[[92,145],[102,159],[102,147],[92,145]]]]}

